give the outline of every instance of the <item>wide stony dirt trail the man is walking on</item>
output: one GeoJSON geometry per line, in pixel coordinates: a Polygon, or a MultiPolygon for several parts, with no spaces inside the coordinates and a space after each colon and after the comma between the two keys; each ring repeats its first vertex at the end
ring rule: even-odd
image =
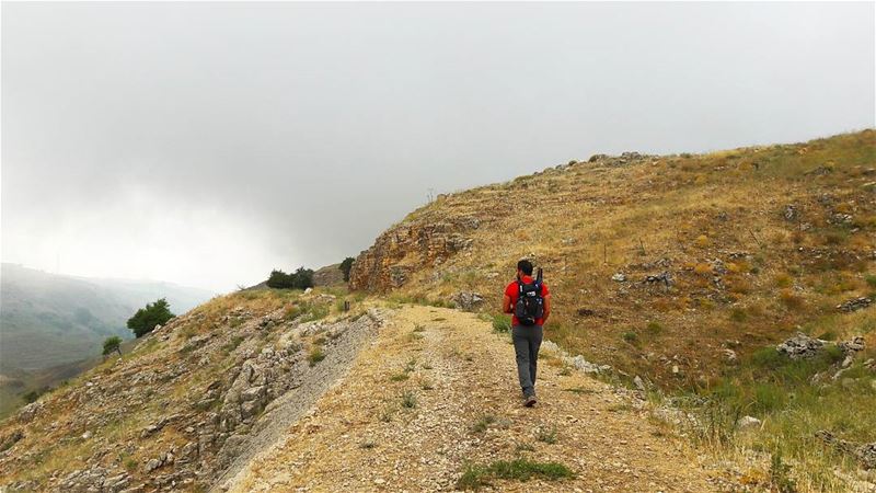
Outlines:
{"type": "Polygon", "coordinates": [[[541,402],[526,409],[507,335],[473,314],[402,308],[349,374],[241,470],[231,490],[449,491],[466,462],[517,457],[558,461],[576,477],[491,480],[487,490],[714,490],[683,444],[660,436],[610,386],[548,356],[539,367],[541,402]],[[484,415],[495,421],[473,429],[484,415]]]}

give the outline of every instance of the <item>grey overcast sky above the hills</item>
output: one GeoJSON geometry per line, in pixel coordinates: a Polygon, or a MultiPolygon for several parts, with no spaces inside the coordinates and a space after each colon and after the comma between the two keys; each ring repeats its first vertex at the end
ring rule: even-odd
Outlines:
{"type": "Polygon", "coordinates": [[[437,193],[874,126],[874,3],[3,3],[2,256],[216,291],[437,193]]]}

